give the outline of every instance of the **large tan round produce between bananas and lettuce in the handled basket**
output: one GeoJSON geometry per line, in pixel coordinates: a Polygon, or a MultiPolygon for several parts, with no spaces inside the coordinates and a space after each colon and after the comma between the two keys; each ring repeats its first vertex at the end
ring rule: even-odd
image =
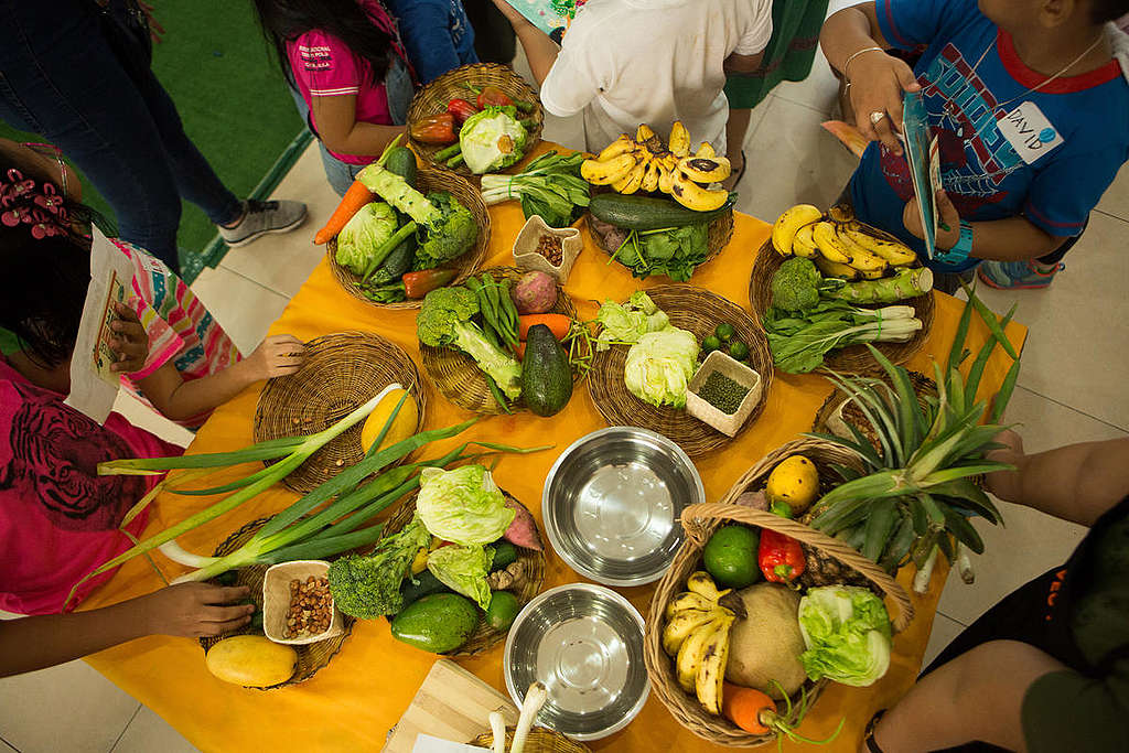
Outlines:
{"type": "Polygon", "coordinates": [[[799,595],[779,584],[761,583],[737,592],[746,616],[729,632],[729,660],[725,678],[735,685],[755,688],[777,700],[784,695],[770,683],[776,680],[791,695],[807,680],[799,655],[799,595]]]}

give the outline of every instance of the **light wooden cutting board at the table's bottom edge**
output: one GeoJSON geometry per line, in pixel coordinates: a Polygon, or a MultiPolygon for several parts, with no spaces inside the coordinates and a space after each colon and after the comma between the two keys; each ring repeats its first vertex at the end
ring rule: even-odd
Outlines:
{"type": "Polygon", "coordinates": [[[454,662],[439,659],[392,728],[384,753],[411,753],[421,732],[469,743],[490,730],[491,711],[500,711],[507,725],[517,724],[517,708],[509,698],[454,662]]]}

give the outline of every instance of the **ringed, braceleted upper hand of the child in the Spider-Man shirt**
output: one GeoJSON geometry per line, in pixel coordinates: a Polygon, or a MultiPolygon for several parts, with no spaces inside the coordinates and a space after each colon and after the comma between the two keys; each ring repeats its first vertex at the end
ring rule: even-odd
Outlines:
{"type": "Polygon", "coordinates": [[[868,52],[856,58],[850,64],[850,102],[859,132],[902,154],[896,133],[902,130],[902,96],[920,88],[913,70],[892,55],[868,52]]]}

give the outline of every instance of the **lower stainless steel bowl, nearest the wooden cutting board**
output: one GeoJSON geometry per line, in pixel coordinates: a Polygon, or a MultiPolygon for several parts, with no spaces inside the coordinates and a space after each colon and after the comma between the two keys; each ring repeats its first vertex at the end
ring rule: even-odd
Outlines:
{"type": "Polygon", "coordinates": [[[506,637],[506,688],[518,707],[540,680],[549,700],[539,724],[575,739],[625,727],[650,692],[642,615],[603,586],[570,584],[525,605],[506,637]]]}

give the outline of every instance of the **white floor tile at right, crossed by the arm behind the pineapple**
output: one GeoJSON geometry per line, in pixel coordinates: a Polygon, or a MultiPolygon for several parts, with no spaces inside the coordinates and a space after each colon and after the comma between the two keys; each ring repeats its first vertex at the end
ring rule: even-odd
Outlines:
{"type": "MultiPolygon", "coordinates": [[[[1005,420],[1021,424],[1016,430],[1027,453],[1126,436],[1124,431],[1023,388],[1015,391],[1005,420]]],[[[975,583],[966,585],[955,569],[951,570],[940,596],[938,611],[964,624],[971,624],[1026,581],[1065,562],[1086,534],[1083,526],[1030,507],[999,502],[999,509],[1003,526],[974,520],[984,541],[984,553],[971,555],[975,583]]]]}

